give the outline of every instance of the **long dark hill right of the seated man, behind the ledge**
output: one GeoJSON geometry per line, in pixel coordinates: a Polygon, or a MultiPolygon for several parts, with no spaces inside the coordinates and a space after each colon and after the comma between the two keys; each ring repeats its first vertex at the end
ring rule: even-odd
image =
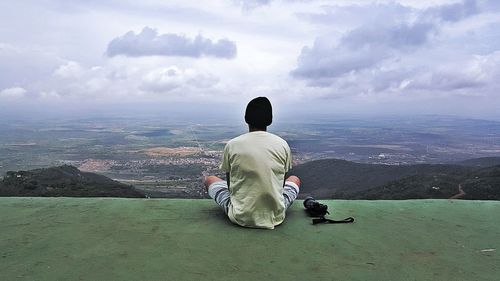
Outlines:
{"type": "Polygon", "coordinates": [[[498,166],[481,169],[488,163],[496,163],[496,160],[483,158],[457,164],[390,166],[324,159],[299,165],[291,173],[302,180],[301,196],[445,199],[460,194],[462,199],[500,200],[498,166]]]}

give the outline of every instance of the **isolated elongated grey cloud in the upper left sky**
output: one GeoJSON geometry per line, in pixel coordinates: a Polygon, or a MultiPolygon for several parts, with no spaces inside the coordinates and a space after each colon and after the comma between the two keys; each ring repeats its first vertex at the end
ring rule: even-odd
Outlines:
{"type": "Polygon", "coordinates": [[[152,28],[144,27],[135,34],[133,31],[113,39],[107,48],[110,57],[124,55],[141,56],[180,56],[202,57],[212,56],[231,59],[236,56],[236,44],[228,39],[212,41],[202,35],[194,39],[173,33],[158,34],[152,28]]]}

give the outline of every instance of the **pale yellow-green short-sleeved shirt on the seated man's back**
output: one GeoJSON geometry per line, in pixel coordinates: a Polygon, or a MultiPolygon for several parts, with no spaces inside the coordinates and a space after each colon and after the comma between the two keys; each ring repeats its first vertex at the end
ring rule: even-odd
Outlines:
{"type": "Polygon", "coordinates": [[[221,169],[230,174],[231,221],[262,228],[283,222],[283,183],[290,168],[290,148],[276,135],[254,131],[230,140],[221,169]]]}

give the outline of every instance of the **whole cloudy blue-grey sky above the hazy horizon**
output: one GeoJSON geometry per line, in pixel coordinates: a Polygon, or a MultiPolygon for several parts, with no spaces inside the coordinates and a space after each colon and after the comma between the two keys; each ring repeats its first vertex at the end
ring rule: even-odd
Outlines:
{"type": "Polygon", "coordinates": [[[500,120],[497,0],[0,2],[0,115],[500,120]]]}

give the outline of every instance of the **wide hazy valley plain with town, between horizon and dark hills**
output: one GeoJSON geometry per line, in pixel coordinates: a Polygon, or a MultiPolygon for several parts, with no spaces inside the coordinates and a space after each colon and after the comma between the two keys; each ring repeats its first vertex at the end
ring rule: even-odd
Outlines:
{"type": "MultiPolygon", "coordinates": [[[[132,184],[151,197],[202,198],[242,120],[93,118],[0,121],[0,174],[73,165],[132,184]]],[[[321,159],[404,166],[500,156],[500,122],[448,116],[315,118],[276,122],[294,166],[321,159]]]]}

